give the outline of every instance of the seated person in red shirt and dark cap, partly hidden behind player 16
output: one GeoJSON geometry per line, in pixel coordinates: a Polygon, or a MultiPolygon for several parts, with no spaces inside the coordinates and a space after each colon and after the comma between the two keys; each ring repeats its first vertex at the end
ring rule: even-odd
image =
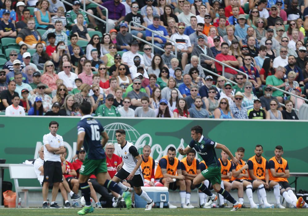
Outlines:
{"type": "MultiPolygon", "coordinates": [[[[72,163],[72,165],[73,165],[73,167],[76,171],[77,177],[79,177],[79,170],[81,168],[81,165],[83,164],[85,156],[86,156],[86,152],[85,152],[84,148],[82,147],[80,149],[79,154],[78,154],[77,160],[75,160],[72,163]]],[[[78,182],[78,180],[77,180],[77,182],[78,182]]],[[[97,182],[95,175],[92,174],[89,177],[88,184],[90,186],[91,197],[96,202],[96,208],[102,208],[100,201],[103,201],[105,203],[104,204],[105,208],[112,208],[113,207],[112,206],[112,203],[113,203],[112,198],[113,197],[109,194],[107,188],[105,188],[104,186],[100,185],[97,182]],[[95,191],[97,191],[97,193],[101,194],[100,201],[98,201],[95,191]]],[[[78,183],[78,186],[79,186],[79,183],[78,183]]],[[[117,194],[117,196],[119,196],[119,195],[117,194]]]]}

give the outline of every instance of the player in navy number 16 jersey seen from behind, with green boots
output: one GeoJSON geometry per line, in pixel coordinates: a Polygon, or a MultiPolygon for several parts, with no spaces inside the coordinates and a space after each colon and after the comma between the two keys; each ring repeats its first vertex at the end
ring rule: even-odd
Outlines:
{"type": "Polygon", "coordinates": [[[94,211],[90,201],[91,192],[88,185],[88,179],[91,174],[96,175],[97,181],[101,185],[120,194],[125,199],[127,208],[130,209],[132,204],[130,192],[123,192],[117,183],[106,179],[107,164],[103,148],[109,137],[101,123],[91,116],[91,109],[91,104],[89,102],[82,102],[80,105],[80,114],[82,118],[77,124],[77,151],[73,159],[77,158],[82,146],[84,146],[87,152],[87,156],[79,170],[79,185],[86,205],[82,210],[78,211],[78,214],[88,214],[94,211]],[[102,140],[101,136],[103,137],[102,140]]]}

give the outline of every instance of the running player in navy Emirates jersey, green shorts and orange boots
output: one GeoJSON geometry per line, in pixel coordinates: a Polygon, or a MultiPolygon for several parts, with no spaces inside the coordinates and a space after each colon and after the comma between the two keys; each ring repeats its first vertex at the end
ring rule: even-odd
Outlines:
{"type": "Polygon", "coordinates": [[[207,179],[211,182],[214,190],[217,193],[220,193],[225,199],[233,203],[233,208],[231,211],[236,211],[240,209],[242,205],[238,201],[236,201],[228,191],[222,189],[220,186],[221,164],[217,159],[215,148],[222,149],[224,152],[226,152],[230,156],[233,164],[239,164],[240,162],[232,155],[230,150],[225,145],[212,141],[211,139],[205,138],[202,135],[202,133],[203,129],[199,125],[192,127],[191,142],[185,149],[179,147],[178,151],[181,155],[186,155],[192,148],[195,148],[196,152],[198,152],[199,156],[201,156],[201,158],[207,164],[207,169],[199,173],[192,182],[193,185],[196,186],[196,188],[200,189],[203,193],[207,194],[207,196],[209,197],[205,206],[210,206],[213,203],[213,201],[217,200],[217,196],[213,194],[202,183],[204,182],[204,180],[207,179]]]}

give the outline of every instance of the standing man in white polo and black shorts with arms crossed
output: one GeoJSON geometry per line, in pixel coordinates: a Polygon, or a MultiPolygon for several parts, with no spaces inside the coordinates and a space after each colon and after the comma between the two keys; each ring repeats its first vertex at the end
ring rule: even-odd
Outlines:
{"type": "Polygon", "coordinates": [[[59,123],[49,123],[49,134],[43,136],[44,144],[44,184],[43,184],[43,208],[47,208],[47,195],[50,183],[53,183],[51,208],[60,208],[55,202],[62,178],[62,166],[60,154],[66,152],[62,136],[57,134],[59,123]]]}

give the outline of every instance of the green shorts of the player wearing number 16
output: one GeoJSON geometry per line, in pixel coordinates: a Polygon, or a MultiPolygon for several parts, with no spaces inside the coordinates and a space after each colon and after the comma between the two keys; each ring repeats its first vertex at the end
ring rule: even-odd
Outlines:
{"type": "Polygon", "coordinates": [[[91,174],[97,175],[101,172],[107,172],[106,158],[99,160],[86,158],[79,170],[79,173],[84,176],[89,176],[91,174]]]}

